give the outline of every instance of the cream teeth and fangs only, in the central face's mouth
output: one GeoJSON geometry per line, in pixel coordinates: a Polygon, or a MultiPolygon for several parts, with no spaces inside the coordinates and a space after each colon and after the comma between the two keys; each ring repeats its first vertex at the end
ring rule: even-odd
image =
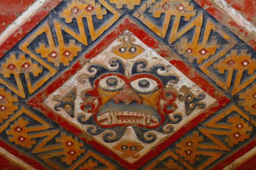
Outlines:
{"type": "Polygon", "coordinates": [[[104,121],[103,125],[112,125],[112,124],[121,124],[121,123],[141,123],[142,125],[149,125],[151,120],[158,123],[158,119],[149,114],[138,113],[138,112],[108,112],[101,114],[97,117],[98,121],[107,119],[108,122],[104,121]],[[134,117],[142,117],[142,119],[121,119],[119,120],[117,116],[134,116],[134,117]]]}

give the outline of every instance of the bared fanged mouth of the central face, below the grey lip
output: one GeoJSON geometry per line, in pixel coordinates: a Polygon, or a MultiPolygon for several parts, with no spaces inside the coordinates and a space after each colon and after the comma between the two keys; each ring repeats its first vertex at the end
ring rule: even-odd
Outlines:
{"type": "Polygon", "coordinates": [[[151,114],[138,112],[107,112],[97,116],[101,125],[117,125],[117,124],[142,124],[144,126],[156,126],[159,124],[158,119],[151,114]]]}

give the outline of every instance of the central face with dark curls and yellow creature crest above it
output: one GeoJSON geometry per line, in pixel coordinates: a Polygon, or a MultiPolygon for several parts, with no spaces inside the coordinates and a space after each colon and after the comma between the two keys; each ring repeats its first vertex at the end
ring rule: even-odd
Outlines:
{"type": "MultiPolygon", "coordinates": [[[[81,110],[92,113],[101,127],[138,126],[156,128],[166,116],[177,109],[177,91],[166,87],[167,83],[176,84],[175,75],[160,75],[166,66],[153,64],[141,53],[144,49],[134,43],[129,36],[121,36],[121,44],[113,48],[115,57],[107,64],[100,59],[91,61],[88,72],[93,76],[81,74],[79,81],[88,79],[92,85],[81,93],[81,110]],[[142,58],[135,59],[141,54],[142,58]],[[119,56],[119,57],[118,57],[119,56]]],[[[147,54],[147,53],[145,53],[147,54]]],[[[152,56],[153,57],[153,56],[152,56]]]]}

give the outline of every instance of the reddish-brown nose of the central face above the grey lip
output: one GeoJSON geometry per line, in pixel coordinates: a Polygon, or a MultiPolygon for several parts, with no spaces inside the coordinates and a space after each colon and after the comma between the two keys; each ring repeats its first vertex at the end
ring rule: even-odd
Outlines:
{"type": "Polygon", "coordinates": [[[116,96],[114,96],[113,101],[116,103],[124,102],[125,104],[130,104],[131,102],[136,101],[137,104],[140,104],[141,98],[131,89],[131,87],[126,86],[116,96]]]}

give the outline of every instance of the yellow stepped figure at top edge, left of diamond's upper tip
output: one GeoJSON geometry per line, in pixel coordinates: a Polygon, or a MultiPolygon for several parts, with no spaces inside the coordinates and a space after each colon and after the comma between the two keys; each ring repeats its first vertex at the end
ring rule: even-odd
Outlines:
{"type": "MultiPolygon", "coordinates": [[[[87,45],[87,38],[84,30],[84,23],[82,18],[87,19],[88,29],[92,38],[92,41],[96,40],[105,30],[107,30],[117,19],[120,17],[120,13],[109,5],[105,0],[84,0],[84,1],[70,1],[67,8],[63,9],[63,13],[59,17],[64,18],[67,23],[71,23],[73,18],[76,18],[79,27],[79,33],[74,33],[70,28],[64,26],[63,29],[68,34],[71,34],[78,39],[84,45],[87,45]],[[107,14],[107,10],[111,11],[113,16],[109,18],[108,22],[99,27],[97,30],[94,26],[93,16],[96,16],[98,20],[103,19],[103,16],[107,14]]],[[[55,22],[57,27],[61,27],[62,24],[55,22]]]]}

